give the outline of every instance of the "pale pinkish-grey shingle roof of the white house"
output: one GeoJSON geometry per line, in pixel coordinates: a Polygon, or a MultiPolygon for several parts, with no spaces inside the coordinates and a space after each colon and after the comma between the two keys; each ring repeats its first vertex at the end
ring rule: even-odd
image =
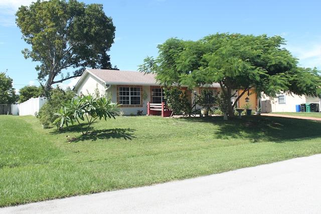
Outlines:
{"type": "Polygon", "coordinates": [[[138,71],[119,71],[106,69],[86,69],[92,75],[98,77],[106,84],[130,84],[130,85],[158,85],[154,74],[145,74],[138,71]]]}

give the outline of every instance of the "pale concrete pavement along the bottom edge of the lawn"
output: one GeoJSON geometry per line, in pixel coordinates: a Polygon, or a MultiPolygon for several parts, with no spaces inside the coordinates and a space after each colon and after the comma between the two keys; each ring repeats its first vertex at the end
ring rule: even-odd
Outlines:
{"type": "MultiPolygon", "coordinates": [[[[0,213],[321,213],[321,154],[0,213]]],[[[1,199],[1,198],[0,198],[1,199]]]]}

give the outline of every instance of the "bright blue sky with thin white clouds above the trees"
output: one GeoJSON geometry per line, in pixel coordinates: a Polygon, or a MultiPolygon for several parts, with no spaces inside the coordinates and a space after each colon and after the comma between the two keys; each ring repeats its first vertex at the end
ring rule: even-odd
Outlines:
{"type": "MultiPolygon", "coordinates": [[[[15,23],[19,6],[32,0],[0,0],[0,72],[19,90],[37,85],[37,62],[21,51],[30,48],[15,23]]],[[[157,45],[171,37],[199,40],[210,34],[241,33],[281,36],[285,48],[299,59],[301,67],[321,70],[321,2],[306,1],[213,1],[213,0],[85,0],[102,4],[116,27],[109,52],[112,65],[136,71],[146,56],[157,57],[157,45]]],[[[72,69],[68,70],[72,72],[72,69]]],[[[58,79],[58,78],[57,78],[58,79]]],[[[56,80],[57,80],[56,79],[56,80]]],[[[64,82],[75,84],[76,80],[64,82]]]]}

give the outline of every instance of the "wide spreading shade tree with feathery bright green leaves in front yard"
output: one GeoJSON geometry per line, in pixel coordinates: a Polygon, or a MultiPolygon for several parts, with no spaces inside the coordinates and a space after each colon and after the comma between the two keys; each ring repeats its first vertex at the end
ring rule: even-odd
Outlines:
{"type": "Polygon", "coordinates": [[[298,61],[282,48],[279,36],[215,34],[199,41],[176,38],[158,45],[159,56],[147,57],[139,71],[155,73],[160,84],[206,86],[219,83],[233,116],[236,102],[250,89],[275,96],[280,91],[321,96],[319,71],[298,67],[298,61]],[[233,103],[234,90],[243,93],[233,103]]]}

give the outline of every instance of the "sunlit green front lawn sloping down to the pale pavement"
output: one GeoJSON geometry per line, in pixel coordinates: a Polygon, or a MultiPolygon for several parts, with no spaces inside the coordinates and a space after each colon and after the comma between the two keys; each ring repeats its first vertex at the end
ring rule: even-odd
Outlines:
{"type": "Polygon", "coordinates": [[[310,120],[140,116],[93,128],[82,137],[76,126],[42,129],[33,116],[0,115],[0,207],[321,153],[321,122],[310,120]]]}

